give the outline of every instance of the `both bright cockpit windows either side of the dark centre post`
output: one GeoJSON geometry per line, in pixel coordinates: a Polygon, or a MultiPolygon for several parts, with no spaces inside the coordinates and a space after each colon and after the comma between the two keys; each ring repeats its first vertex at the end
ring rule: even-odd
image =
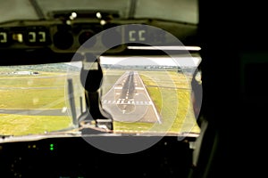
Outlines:
{"type": "MultiPolygon", "coordinates": [[[[188,56],[101,56],[100,103],[113,119],[113,133],[199,134],[190,81],[200,61],[188,56]],[[193,66],[178,65],[188,60],[193,66]]],[[[88,111],[82,69],[80,61],[0,67],[0,134],[76,134],[92,126],[91,121],[80,122],[88,111]]]]}

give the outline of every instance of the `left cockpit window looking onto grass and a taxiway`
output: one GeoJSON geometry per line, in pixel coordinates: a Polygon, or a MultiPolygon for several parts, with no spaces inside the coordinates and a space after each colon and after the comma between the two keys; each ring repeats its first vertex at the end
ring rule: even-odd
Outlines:
{"type": "MultiPolygon", "coordinates": [[[[79,75],[79,69],[68,63],[0,67],[0,134],[46,134],[70,128],[66,81],[71,78],[80,88],[79,75]]],[[[79,89],[74,93],[78,105],[81,93],[79,89]]]]}

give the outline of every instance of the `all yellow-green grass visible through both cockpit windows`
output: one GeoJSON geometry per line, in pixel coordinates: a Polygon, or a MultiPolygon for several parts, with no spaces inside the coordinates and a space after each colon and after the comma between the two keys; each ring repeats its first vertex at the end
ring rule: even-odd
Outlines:
{"type": "MultiPolygon", "coordinates": [[[[106,81],[108,91],[124,73],[123,70],[105,70],[111,80],[106,81]]],[[[199,132],[190,105],[188,77],[175,71],[139,71],[163,123],[114,122],[115,132],[199,132]]],[[[42,72],[38,76],[1,76],[1,109],[63,109],[66,102],[66,75],[60,72],[42,72]]],[[[77,88],[79,75],[73,76],[77,88]]],[[[76,90],[76,102],[80,91],[76,90]]],[[[71,117],[25,116],[0,113],[0,135],[43,134],[71,126],[71,117]]]]}

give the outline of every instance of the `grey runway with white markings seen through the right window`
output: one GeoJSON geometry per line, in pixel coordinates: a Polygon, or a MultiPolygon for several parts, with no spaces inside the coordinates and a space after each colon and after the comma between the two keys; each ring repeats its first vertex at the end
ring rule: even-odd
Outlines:
{"type": "Polygon", "coordinates": [[[102,97],[102,106],[115,121],[162,123],[138,71],[126,71],[102,97]]]}

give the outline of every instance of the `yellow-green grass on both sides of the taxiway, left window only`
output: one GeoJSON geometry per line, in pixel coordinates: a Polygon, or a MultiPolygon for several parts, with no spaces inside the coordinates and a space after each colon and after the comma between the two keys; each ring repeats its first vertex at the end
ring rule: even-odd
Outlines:
{"type": "MultiPolygon", "coordinates": [[[[0,110],[70,108],[65,98],[66,79],[66,74],[60,72],[42,72],[38,76],[1,76],[0,110]]],[[[68,113],[63,116],[0,113],[0,135],[44,134],[69,126],[71,117],[68,113]]]]}

